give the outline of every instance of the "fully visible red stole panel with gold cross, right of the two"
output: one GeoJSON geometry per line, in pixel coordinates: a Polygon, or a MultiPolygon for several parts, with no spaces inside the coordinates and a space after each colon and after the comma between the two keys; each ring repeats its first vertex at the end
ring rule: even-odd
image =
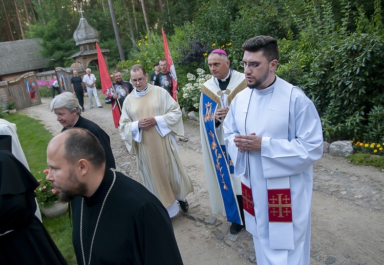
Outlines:
{"type": "Polygon", "coordinates": [[[292,222],[291,189],[268,189],[269,222],[292,222]]]}

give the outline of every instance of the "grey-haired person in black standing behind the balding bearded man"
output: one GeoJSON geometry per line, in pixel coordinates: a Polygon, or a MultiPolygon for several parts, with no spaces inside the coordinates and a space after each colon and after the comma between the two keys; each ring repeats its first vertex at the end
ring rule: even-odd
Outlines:
{"type": "Polygon", "coordinates": [[[93,133],[100,141],[105,151],[106,166],[116,168],[113,157],[110,136],[97,124],[80,115],[81,107],[75,95],[62,93],[51,102],[51,111],[55,111],[57,121],[62,125],[62,132],[69,128],[84,128],[93,133]]]}

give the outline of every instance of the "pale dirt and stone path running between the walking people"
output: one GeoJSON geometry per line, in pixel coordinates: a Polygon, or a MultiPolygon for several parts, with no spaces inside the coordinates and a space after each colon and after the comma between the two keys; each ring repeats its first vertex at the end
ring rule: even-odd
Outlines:
{"type": "MultiPolygon", "coordinates": [[[[61,125],[49,110],[50,101],[42,99],[41,105],[21,112],[39,119],[56,135],[61,125]]],[[[117,169],[137,179],[135,158],[125,150],[113,125],[110,106],[102,103],[104,108],[90,109],[88,98],[84,101],[86,111],[82,116],[97,123],[111,137],[117,169]]],[[[179,141],[179,154],[195,192],[187,197],[188,214],[181,212],[172,219],[184,263],[255,263],[251,235],[244,230],[230,235],[224,216],[210,211],[199,123],[185,121],[184,129],[189,141],[179,141]]],[[[383,170],[323,155],[314,165],[311,264],[384,264],[383,197],[383,170]]]]}

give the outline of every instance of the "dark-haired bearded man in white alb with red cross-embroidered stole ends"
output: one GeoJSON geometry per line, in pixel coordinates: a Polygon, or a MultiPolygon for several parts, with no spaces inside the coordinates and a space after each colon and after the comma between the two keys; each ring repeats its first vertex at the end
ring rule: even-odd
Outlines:
{"type": "Polygon", "coordinates": [[[242,176],[246,229],[260,265],[309,264],[313,163],[323,154],[321,121],[298,87],[275,75],[269,36],[245,41],[244,74],[224,120],[224,138],[242,176]]]}

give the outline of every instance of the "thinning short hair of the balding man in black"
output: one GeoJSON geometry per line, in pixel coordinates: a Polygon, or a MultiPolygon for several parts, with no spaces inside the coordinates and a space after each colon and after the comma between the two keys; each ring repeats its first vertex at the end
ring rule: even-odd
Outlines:
{"type": "Polygon", "coordinates": [[[71,164],[84,158],[96,168],[105,165],[104,148],[93,133],[83,128],[71,128],[66,131],[69,131],[69,136],[64,142],[65,158],[71,164]]]}

